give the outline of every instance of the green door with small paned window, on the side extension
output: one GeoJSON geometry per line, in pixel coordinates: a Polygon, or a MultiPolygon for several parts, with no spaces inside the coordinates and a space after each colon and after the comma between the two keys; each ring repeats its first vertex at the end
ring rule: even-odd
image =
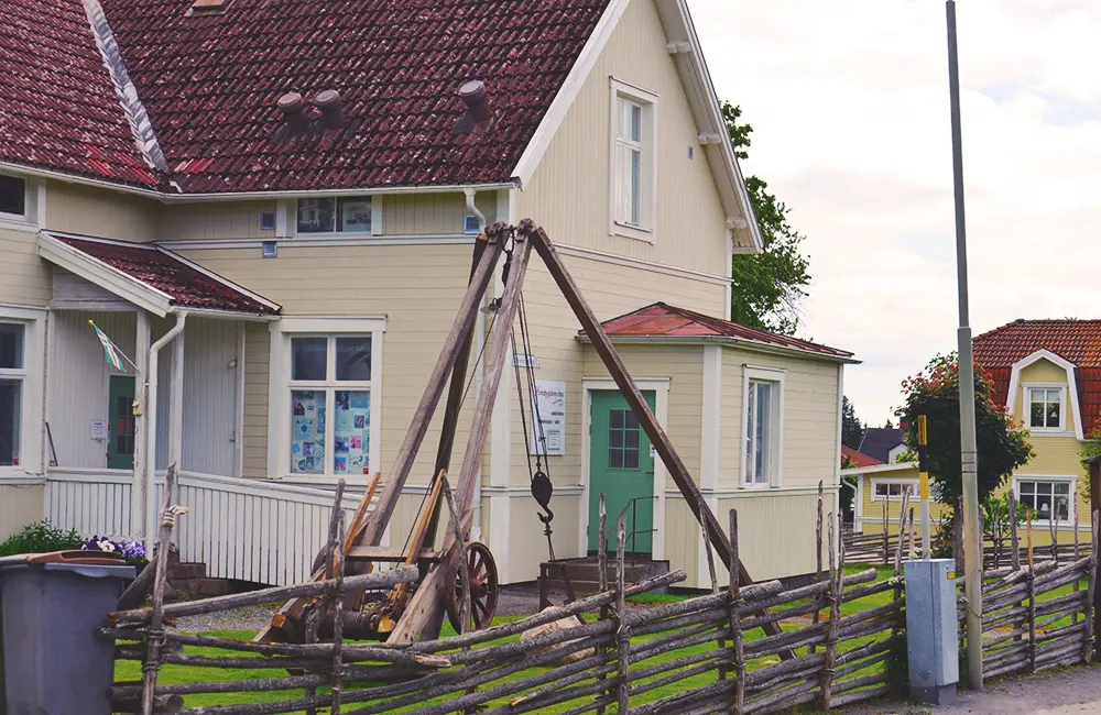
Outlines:
{"type": "MultiPolygon", "coordinates": [[[[654,409],[654,393],[643,396],[654,409]]],[[[626,515],[626,550],[653,553],[654,458],[650,438],[618,391],[596,391],[589,416],[589,551],[598,546],[598,509],[604,493],[608,549],[615,551],[615,520],[626,515]],[[633,536],[632,536],[633,535],[633,536]]]]}

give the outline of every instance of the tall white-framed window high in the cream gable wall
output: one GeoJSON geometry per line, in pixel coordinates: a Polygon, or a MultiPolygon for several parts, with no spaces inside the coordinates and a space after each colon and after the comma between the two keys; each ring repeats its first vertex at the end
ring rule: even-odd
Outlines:
{"type": "Polygon", "coordinates": [[[611,80],[609,233],[654,240],[657,210],[657,95],[611,80]]]}

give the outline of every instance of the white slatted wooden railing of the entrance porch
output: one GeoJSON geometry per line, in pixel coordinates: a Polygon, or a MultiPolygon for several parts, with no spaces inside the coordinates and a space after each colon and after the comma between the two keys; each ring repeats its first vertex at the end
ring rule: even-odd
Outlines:
{"type": "MultiPolygon", "coordinates": [[[[129,536],[131,480],[130,472],[116,470],[51,470],[46,518],[85,536],[129,536]]],[[[162,480],[159,475],[157,508],[162,480]]],[[[181,472],[178,483],[176,503],[189,509],[176,522],[181,561],[205,563],[217,579],[273,585],[309,579],[327,537],[331,492],[194,472],[181,472]]],[[[348,524],[359,499],[345,497],[348,524]]]]}

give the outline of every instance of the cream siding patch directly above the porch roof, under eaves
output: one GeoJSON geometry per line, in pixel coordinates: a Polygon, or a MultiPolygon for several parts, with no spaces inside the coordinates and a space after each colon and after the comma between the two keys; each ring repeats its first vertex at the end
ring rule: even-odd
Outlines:
{"type": "Polygon", "coordinates": [[[133,195],[47,182],[43,228],[120,241],[154,241],[160,209],[157,202],[133,195]]]}

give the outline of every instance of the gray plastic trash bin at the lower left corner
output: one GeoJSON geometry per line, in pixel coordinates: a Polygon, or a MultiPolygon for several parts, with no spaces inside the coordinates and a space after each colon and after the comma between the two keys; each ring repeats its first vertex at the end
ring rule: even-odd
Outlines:
{"type": "Polygon", "coordinates": [[[0,715],[110,715],[115,644],[96,629],[134,569],[92,561],[0,568],[0,715]]]}

